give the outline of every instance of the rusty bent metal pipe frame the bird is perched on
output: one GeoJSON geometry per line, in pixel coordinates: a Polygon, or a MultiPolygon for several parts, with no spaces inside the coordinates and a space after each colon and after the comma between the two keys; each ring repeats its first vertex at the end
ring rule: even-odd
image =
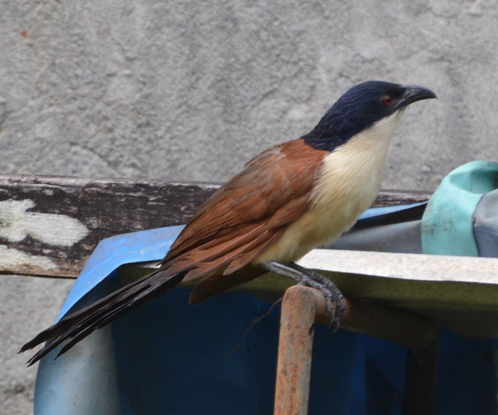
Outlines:
{"type": "MultiPolygon", "coordinates": [[[[435,379],[435,325],[403,311],[365,301],[345,300],[343,329],[409,346],[419,351],[415,355],[423,356],[412,359],[412,363],[408,361],[403,412],[430,415],[435,379]]],[[[308,413],[314,323],[328,324],[330,319],[325,297],[319,290],[294,285],[285,292],[280,317],[275,415],[308,413]]]]}

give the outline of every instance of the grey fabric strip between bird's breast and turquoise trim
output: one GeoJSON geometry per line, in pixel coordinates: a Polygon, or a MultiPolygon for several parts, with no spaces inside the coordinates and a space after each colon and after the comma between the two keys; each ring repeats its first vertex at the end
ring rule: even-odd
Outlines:
{"type": "Polygon", "coordinates": [[[420,221],[352,229],[326,248],[421,254],[420,221]]]}

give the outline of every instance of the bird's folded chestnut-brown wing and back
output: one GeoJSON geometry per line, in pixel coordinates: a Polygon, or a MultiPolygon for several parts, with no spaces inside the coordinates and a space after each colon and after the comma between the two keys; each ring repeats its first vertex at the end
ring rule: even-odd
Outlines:
{"type": "Polygon", "coordinates": [[[161,269],[189,280],[248,265],[309,208],[326,153],[299,138],[254,157],[200,207],[161,269]]]}

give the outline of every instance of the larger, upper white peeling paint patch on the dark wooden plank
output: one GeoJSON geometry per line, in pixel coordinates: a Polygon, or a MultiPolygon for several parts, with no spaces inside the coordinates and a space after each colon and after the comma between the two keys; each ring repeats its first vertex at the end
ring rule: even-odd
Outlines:
{"type": "Polygon", "coordinates": [[[0,237],[20,242],[28,235],[48,245],[70,247],[89,234],[75,218],[53,213],[28,212],[35,207],[30,199],[0,202],[0,237]]]}

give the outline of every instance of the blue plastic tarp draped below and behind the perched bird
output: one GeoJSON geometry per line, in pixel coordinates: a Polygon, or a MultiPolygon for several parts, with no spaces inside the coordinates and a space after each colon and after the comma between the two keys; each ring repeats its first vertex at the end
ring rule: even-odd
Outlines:
{"type": "MultiPolygon", "coordinates": [[[[400,209],[371,209],[364,219],[400,209]]],[[[58,318],[117,289],[116,270],[160,260],[182,227],[102,241],[58,318]]],[[[179,288],[98,330],[67,354],[42,359],[35,415],[271,414],[279,309],[228,292],[190,306],[179,288]],[[257,324],[254,319],[268,315],[257,324]]],[[[406,348],[317,326],[310,414],[401,413],[406,348]]],[[[490,340],[440,332],[436,415],[496,414],[490,340]]]]}

